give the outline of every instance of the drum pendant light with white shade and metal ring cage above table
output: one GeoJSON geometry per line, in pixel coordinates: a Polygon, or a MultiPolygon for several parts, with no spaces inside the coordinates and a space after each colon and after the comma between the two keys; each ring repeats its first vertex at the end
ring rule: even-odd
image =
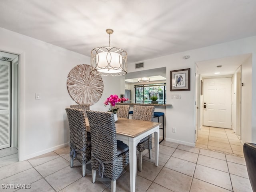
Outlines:
{"type": "Polygon", "coordinates": [[[110,34],[114,31],[106,29],[109,36],[108,47],[97,47],[91,51],[92,73],[101,76],[122,76],[127,74],[126,51],[110,46],[110,34]]]}

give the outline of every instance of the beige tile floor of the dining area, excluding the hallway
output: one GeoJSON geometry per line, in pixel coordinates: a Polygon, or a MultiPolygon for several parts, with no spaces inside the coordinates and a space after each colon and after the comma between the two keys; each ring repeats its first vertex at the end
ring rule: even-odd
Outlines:
{"type": "MultiPolygon", "coordinates": [[[[153,163],[154,148],[152,159],[144,152],[142,172],[138,171],[136,177],[136,192],[252,192],[245,161],[240,156],[167,141],[161,142],[159,149],[158,167],[153,163]]],[[[78,162],[70,168],[68,153],[69,147],[65,147],[16,162],[15,148],[0,150],[0,191],[111,191],[108,178],[101,179],[97,174],[96,182],[91,182],[90,164],[84,178],[78,162]],[[2,184],[30,184],[31,189],[3,189],[2,184]]],[[[116,182],[116,191],[129,190],[126,168],[116,182]]]]}

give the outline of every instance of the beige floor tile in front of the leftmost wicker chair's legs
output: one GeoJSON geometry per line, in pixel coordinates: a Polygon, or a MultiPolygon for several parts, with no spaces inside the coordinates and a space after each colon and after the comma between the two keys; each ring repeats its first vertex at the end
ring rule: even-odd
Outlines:
{"type": "Polygon", "coordinates": [[[61,169],[45,177],[46,181],[56,190],[62,190],[66,186],[82,177],[81,170],[70,166],[61,169]]]}

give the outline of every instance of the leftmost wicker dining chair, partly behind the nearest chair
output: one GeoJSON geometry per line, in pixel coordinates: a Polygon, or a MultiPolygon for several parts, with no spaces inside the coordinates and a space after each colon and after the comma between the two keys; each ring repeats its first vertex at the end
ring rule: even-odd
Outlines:
{"type": "Polygon", "coordinates": [[[86,163],[91,159],[91,138],[87,135],[84,110],[66,108],[70,129],[70,167],[74,159],[82,164],[82,176],[86,174],[86,163]]]}

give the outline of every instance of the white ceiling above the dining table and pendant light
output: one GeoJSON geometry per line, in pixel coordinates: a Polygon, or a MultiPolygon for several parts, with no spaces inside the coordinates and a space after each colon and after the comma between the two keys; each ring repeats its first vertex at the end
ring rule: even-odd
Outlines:
{"type": "Polygon", "coordinates": [[[255,0],[1,0],[0,27],[90,56],[98,46],[128,64],[256,35],[255,0]]]}

